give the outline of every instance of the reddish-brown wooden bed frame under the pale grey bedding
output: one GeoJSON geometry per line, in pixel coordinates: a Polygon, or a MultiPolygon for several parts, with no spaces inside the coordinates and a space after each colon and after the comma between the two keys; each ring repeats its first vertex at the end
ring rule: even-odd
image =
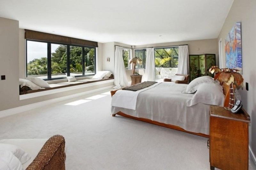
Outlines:
{"type": "MultiPolygon", "coordinates": [[[[229,86],[226,85],[223,82],[221,82],[221,85],[223,87],[223,94],[225,95],[224,106],[228,106],[228,102],[229,102],[229,86]]],[[[120,90],[120,89],[118,89],[118,90],[120,90]]],[[[116,91],[117,90],[110,91],[111,96],[115,95],[116,91]]],[[[115,117],[116,115],[132,118],[132,119],[139,120],[139,121],[142,121],[142,122],[147,122],[147,123],[150,123],[150,124],[156,124],[158,126],[163,126],[163,127],[166,127],[166,128],[177,130],[177,131],[183,131],[183,132],[186,132],[186,133],[202,136],[202,137],[205,137],[205,138],[209,138],[209,135],[206,135],[206,134],[203,134],[203,133],[195,133],[195,132],[191,132],[191,131],[186,131],[185,129],[183,129],[183,128],[179,127],[179,126],[175,126],[175,125],[172,125],[172,124],[164,124],[164,123],[153,121],[153,120],[146,119],[146,118],[130,116],[130,115],[127,115],[127,114],[125,114],[125,113],[123,113],[121,111],[117,112],[116,114],[112,114],[113,117],[115,117]]]]}

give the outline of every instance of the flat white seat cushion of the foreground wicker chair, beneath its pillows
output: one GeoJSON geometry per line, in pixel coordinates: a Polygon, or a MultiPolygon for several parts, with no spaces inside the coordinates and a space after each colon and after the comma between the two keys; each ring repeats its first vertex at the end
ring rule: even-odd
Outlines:
{"type": "MultiPolygon", "coordinates": [[[[3,139],[0,140],[0,143],[16,145],[27,152],[31,156],[31,159],[22,164],[23,169],[26,169],[36,158],[36,155],[42,149],[47,140],[48,139],[3,139]]],[[[67,146],[65,145],[65,152],[66,149],[67,146]]]]}

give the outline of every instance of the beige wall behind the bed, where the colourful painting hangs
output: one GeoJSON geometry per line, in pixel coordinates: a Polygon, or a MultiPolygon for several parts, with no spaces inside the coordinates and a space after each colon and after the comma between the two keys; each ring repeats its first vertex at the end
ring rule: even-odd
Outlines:
{"type": "Polygon", "coordinates": [[[244,87],[245,82],[249,83],[249,91],[240,89],[244,109],[251,116],[249,126],[250,147],[256,155],[256,1],[255,0],[234,0],[228,13],[226,21],[221,29],[218,40],[222,39],[222,55],[225,64],[225,37],[237,21],[242,26],[242,62],[244,87]]]}

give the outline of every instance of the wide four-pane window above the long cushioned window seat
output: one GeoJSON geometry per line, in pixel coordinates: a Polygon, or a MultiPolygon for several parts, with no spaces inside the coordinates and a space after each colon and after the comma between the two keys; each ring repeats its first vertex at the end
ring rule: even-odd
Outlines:
{"type": "Polygon", "coordinates": [[[26,40],[27,77],[44,80],[95,74],[95,47],[26,40]]]}

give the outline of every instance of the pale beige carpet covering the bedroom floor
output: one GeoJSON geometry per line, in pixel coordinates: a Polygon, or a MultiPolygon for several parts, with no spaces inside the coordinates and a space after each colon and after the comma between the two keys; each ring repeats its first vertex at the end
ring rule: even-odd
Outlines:
{"type": "Polygon", "coordinates": [[[1,118],[0,139],[63,135],[67,170],[210,169],[207,138],[111,117],[109,92],[88,97],[1,118]]]}

